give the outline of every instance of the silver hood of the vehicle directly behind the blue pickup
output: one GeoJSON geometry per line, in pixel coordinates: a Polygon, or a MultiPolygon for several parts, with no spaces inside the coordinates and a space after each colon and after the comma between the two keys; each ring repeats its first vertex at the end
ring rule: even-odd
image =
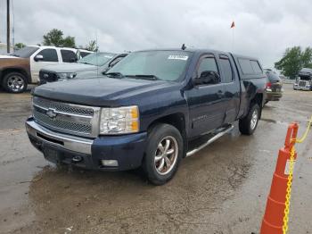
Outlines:
{"type": "Polygon", "coordinates": [[[93,71],[97,67],[91,64],[84,63],[64,63],[64,64],[55,64],[45,66],[45,71],[54,71],[54,72],[76,72],[76,71],[93,71]]]}

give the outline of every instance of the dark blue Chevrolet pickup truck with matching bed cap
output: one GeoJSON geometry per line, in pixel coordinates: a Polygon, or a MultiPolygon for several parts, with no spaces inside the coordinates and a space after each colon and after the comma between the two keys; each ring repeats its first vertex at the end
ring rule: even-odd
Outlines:
{"type": "Polygon", "coordinates": [[[53,163],[101,171],[142,167],[160,185],[182,158],[232,130],[234,121],[242,134],[252,134],[266,83],[254,58],[212,50],[138,51],[105,76],[35,88],[26,129],[53,163]]]}

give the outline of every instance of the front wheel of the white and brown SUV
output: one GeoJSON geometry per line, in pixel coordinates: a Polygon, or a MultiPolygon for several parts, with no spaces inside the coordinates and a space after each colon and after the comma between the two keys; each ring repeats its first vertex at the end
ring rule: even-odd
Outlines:
{"type": "Polygon", "coordinates": [[[10,72],[4,76],[2,87],[9,93],[19,94],[26,90],[27,79],[20,72],[10,72]]]}

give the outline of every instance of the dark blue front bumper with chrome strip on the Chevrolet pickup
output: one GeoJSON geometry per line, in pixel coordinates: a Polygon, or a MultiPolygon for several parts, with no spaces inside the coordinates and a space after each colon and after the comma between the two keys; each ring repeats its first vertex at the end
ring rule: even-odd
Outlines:
{"type": "Polygon", "coordinates": [[[147,133],[81,138],[62,134],[37,124],[32,117],[26,130],[33,146],[53,163],[67,163],[100,171],[126,171],[139,167],[144,156],[147,133]],[[81,158],[77,162],[74,158],[81,158]],[[103,166],[102,160],[116,160],[118,166],[103,166]]]}

